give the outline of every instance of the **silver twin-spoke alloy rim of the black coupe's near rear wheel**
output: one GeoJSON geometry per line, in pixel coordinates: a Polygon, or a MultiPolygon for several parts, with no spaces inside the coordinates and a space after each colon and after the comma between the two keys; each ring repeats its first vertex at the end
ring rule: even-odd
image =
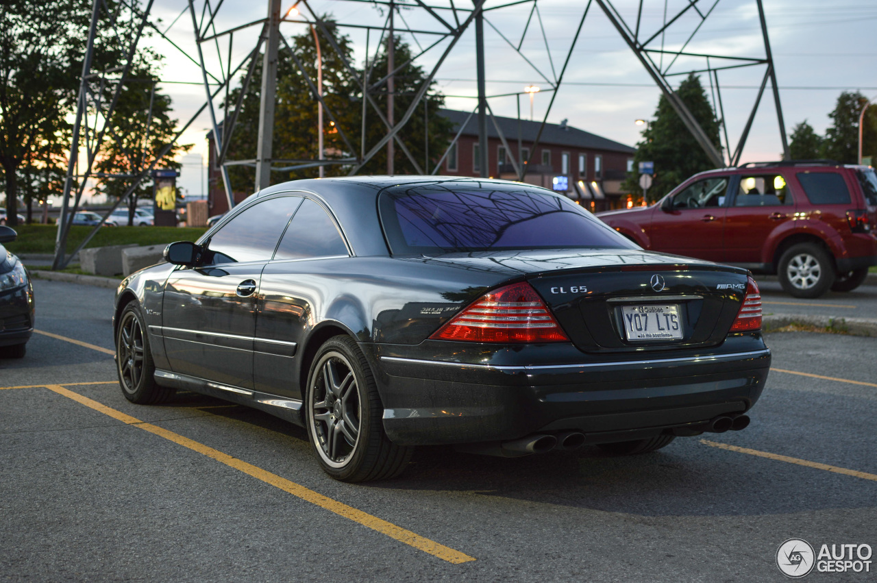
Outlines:
{"type": "Polygon", "coordinates": [[[340,352],[320,360],[308,403],[310,427],[317,451],[326,464],[343,467],[360,438],[360,392],[353,366],[340,352]]]}

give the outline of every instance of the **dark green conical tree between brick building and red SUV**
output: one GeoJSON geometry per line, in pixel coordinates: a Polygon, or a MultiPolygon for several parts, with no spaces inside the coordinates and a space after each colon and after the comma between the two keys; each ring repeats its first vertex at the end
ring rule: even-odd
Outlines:
{"type": "MultiPolygon", "coordinates": [[[[719,121],[712,105],[709,104],[700,77],[693,73],[689,74],[675,93],[691,111],[709,140],[721,150],[719,121]]],[[[654,162],[655,174],[652,187],[648,190],[650,202],[660,199],[692,174],[714,167],[707,153],[703,151],[691,132],[688,132],[688,128],[682,123],[666,96],[660,96],[654,120],[646,126],[642,135],[643,140],[637,144],[637,153],[634,154],[633,160],[634,168],[641,161],[654,162]]],[[[641,191],[636,171],[628,174],[622,186],[631,192],[641,191]]]]}

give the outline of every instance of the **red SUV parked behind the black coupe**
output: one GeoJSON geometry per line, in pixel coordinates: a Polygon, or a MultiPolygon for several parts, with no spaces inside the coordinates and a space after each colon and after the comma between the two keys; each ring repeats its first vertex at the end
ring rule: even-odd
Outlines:
{"type": "Polygon", "coordinates": [[[877,175],[833,160],[709,170],[650,207],[597,216],[645,249],[777,274],[795,297],[858,288],[877,265],[877,175]]]}

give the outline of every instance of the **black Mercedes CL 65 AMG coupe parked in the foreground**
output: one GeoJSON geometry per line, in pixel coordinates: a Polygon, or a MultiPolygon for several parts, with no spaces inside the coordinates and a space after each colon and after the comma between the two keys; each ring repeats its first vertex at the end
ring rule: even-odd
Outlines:
{"type": "Polygon", "coordinates": [[[287,182],[165,258],[118,288],[125,397],[299,423],[338,480],[396,476],[417,444],[624,454],[743,429],[770,366],[745,270],[517,182],[287,182]]]}

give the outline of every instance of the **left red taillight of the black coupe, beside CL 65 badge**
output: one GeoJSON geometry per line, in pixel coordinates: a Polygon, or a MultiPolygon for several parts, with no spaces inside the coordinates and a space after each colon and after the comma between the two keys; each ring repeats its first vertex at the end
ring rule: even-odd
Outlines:
{"type": "Polygon", "coordinates": [[[526,282],[482,295],[430,338],[464,342],[569,342],[548,306],[526,282]]]}

